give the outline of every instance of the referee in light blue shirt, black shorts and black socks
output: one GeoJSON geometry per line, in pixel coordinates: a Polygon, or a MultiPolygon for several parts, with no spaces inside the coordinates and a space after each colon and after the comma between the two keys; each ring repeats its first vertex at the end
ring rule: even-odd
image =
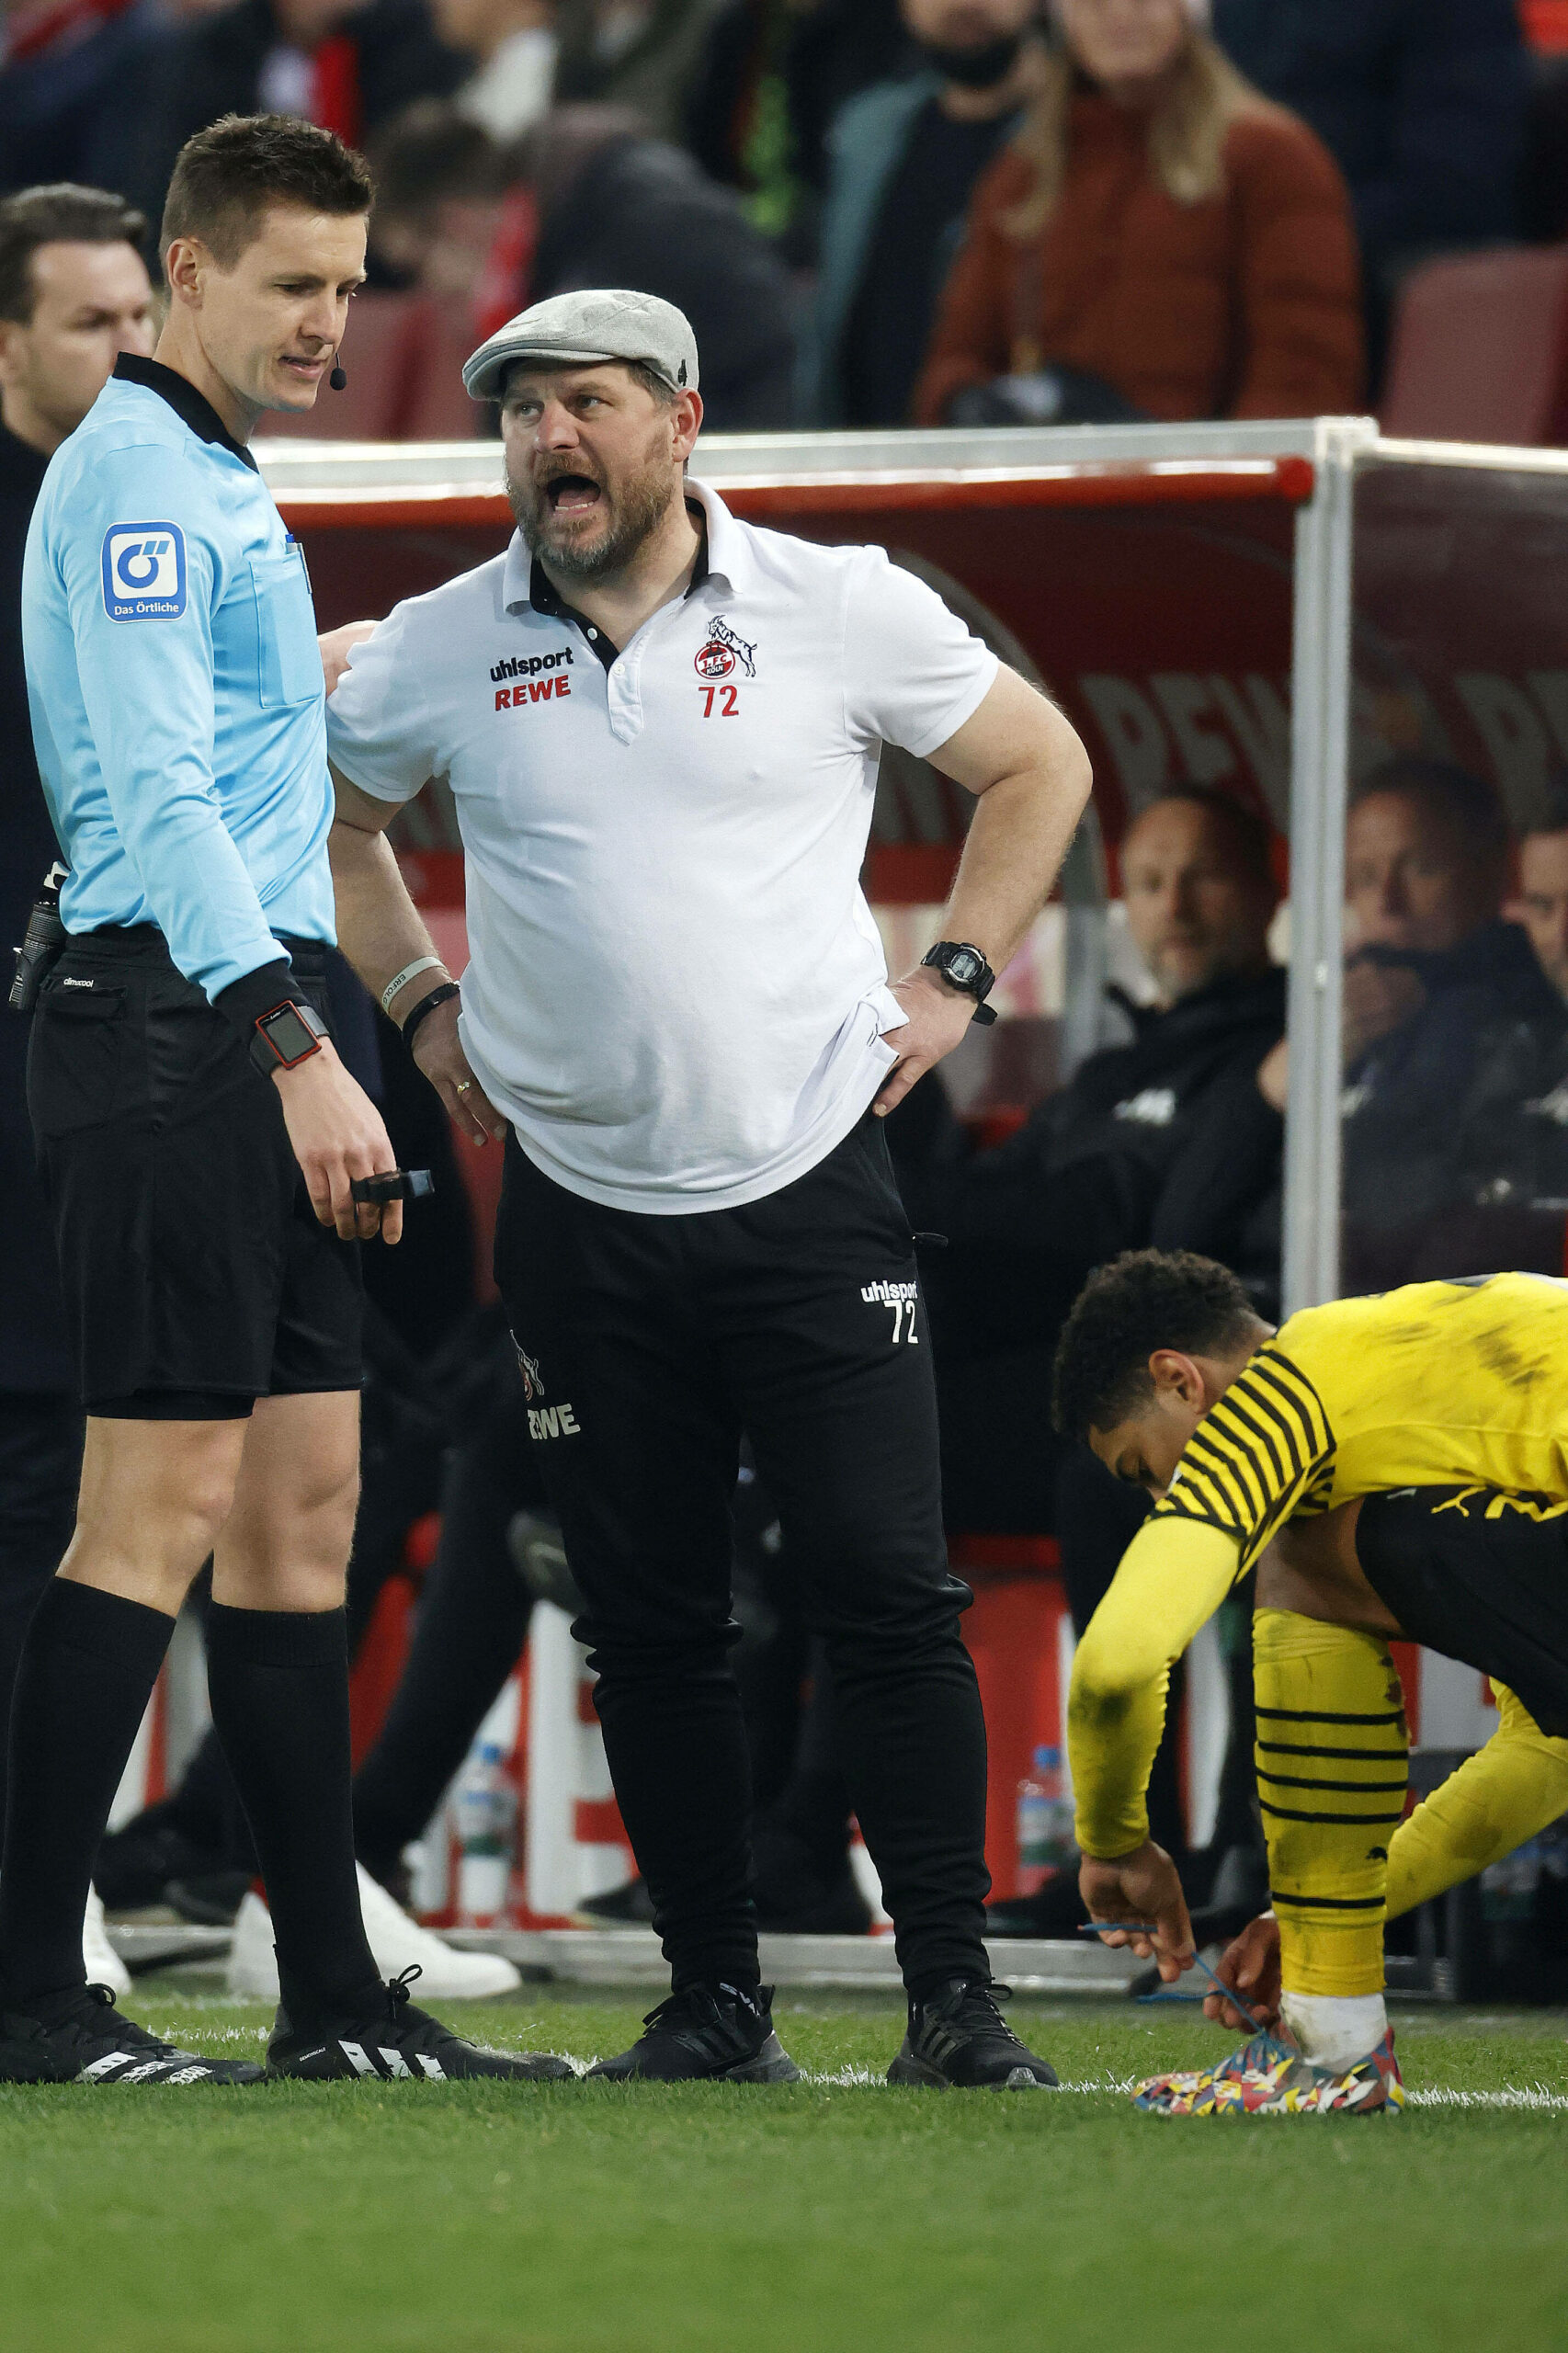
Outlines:
{"type": "Polygon", "coordinates": [[[82,1981],[92,1857],[207,1555],[212,1718],[278,1937],[271,2071],[570,2073],[480,2052],[381,1984],[353,1866],[356,1238],[396,1240],[400,1202],[351,1193],[393,1153],[320,1014],[323,668],[247,435],[308,409],[334,365],[370,195],[308,122],[231,115],[188,141],[158,358],[120,360],[28,536],[28,696],[71,861],[28,1108],[87,1449],[12,1706],[0,2080],[261,2073],[160,2042],[82,1981]]]}

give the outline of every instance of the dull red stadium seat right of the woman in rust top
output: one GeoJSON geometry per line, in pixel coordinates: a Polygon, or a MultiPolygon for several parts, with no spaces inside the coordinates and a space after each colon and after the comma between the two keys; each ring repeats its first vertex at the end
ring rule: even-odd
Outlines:
{"type": "Polygon", "coordinates": [[[1413,271],[1398,294],[1382,431],[1556,445],[1568,426],[1568,245],[1413,271]]]}

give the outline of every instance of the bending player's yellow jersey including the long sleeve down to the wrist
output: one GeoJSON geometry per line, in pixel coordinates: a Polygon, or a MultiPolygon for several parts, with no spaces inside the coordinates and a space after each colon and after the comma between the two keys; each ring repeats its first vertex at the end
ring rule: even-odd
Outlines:
{"type": "Polygon", "coordinates": [[[1568,1282],[1413,1282],[1293,1315],[1198,1421],[1078,1645],[1083,1852],[1128,1854],[1149,1835],[1170,1664],[1283,1520],[1471,1480],[1568,1501],[1568,1282]]]}

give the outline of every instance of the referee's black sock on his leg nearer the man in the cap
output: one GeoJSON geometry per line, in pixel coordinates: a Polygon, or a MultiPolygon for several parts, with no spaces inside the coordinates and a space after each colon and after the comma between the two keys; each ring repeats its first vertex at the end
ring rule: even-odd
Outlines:
{"type": "Polygon", "coordinates": [[[266,1880],[290,2021],[363,2017],[381,1977],[353,1868],[346,1614],[214,1602],[207,1689],[266,1880]]]}

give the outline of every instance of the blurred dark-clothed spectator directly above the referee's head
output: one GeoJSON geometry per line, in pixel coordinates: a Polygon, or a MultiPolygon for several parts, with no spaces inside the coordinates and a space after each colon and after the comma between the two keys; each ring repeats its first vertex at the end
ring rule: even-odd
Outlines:
{"type": "Polygon", "coordinates": [[[235,0],[165,33],[127,92],[125,186],[160,219],[174,155],[219,115],[304,115],[363,146],[424,96],[447,96],[471,59],[431,31],[424,0],[235,0]]]}

